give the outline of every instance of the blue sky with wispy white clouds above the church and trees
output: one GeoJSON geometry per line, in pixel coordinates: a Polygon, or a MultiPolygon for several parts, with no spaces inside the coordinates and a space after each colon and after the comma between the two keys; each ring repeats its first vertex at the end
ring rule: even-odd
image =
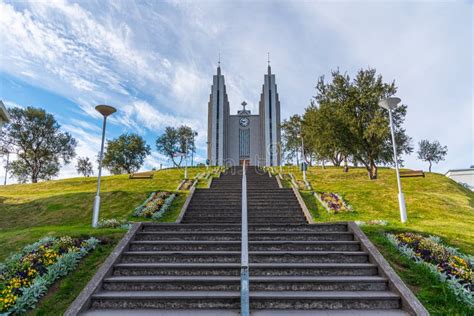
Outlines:
{"type": "MultiPolygon", "coordinates": [[[[444,173],[474,164],[473,17],[472,1],[0,0],[0,100],[54,114],[94,161],[94,107],[113,105],[107,139],[143,136],[150,169],[170,165],[155,147],[166,126],[197,130],[205,161],[219,54],[231,112],[245,100],[257,113],[270,53],[283,119],[304,113],[320,76],[372,67],[395,80],[414,144],[448,146],[433,167],[444,173]]],[[[427,169],[415,153],[404,161],[427,169]]],[[[74,166],[59,177],[77,176],[74,166]]]]}

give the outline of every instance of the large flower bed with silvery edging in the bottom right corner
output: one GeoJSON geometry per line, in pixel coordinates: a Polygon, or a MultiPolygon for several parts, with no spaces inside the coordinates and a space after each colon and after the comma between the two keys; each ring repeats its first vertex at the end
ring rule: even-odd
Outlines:
{"type": "Polygon", "coordinates": [[[439,237],[400,233],[387,234],[387,238],[404,255],[446,282],[459,300],[474,307],[473,256],[444,245],[439,237]]]}

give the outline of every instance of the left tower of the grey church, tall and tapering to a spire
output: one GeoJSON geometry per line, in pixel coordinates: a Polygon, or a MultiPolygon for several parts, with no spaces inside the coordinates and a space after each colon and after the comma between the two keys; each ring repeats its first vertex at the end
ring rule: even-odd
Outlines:
{"type": "Polygon", "coordinates": [[[207,159],[211,166],[223,166],[227,161],[229,112],[229,100],[219,62],[208,103],[207,159]]]}

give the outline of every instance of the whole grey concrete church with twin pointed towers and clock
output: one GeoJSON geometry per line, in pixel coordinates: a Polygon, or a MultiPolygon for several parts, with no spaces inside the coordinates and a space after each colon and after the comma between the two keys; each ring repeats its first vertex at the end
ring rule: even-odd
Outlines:
{"type": "Polygon", "coordinates": [[[208,103],[207,158],[212,166],[278,166],[281,131],[280,100],[270,63],[264,75],[259,113],[242,109],[230,113],[220,63],[213,76],[208,103]]]}

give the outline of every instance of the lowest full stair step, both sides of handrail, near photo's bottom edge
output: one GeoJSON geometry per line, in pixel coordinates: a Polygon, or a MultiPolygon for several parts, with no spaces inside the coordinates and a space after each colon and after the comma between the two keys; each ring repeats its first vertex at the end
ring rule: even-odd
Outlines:
{"type": "MultiPolygon", "coordinates": [[[[92,308],[240,307],[239,291],[101,291],[92,308]]],[[[400,297],[388,291],[253,291],[251,309],[396,309],[400,297]]]]}

